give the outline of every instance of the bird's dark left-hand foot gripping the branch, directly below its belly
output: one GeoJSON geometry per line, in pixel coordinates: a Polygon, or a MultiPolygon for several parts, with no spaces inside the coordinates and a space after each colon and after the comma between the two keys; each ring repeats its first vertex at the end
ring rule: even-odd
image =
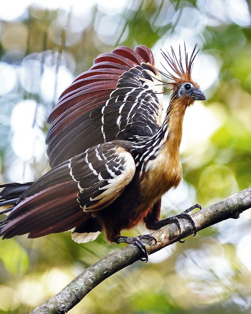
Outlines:
{"type": "Polygon", "coordinates": [[[148,253],[145,243],[150,246],[154,246],[157,243],[157,240],[154,236],[147,234],[147,235],[140,235],[137,237],[132,236],[117,236],[116,243],[127,243],[127,244],[134,244],[137,248],[140,249],[142,252],[143,257],[141,257],[141,261],[146,262],[148,261],[148,253]],[[145,242],[145,243],[144,243],[145,242]]]}

